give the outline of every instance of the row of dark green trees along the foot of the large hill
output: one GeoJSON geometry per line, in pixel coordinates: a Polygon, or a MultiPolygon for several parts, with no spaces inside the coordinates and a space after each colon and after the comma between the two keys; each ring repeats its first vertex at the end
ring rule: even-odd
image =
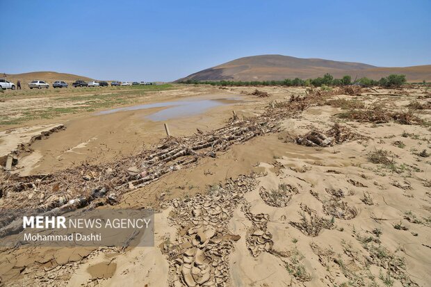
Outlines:
{"type": "MultiPolygon", "coordinates": [[[[360,83],[363,85],[380,85],[384,88],[396,88],[406,82],[405,75],[391,74],[387,77],[375,81],[373,79],[368,79],[366,77],[361,78],[355,83],[360,83]]],[[[222,86],[247,86],[247,85],[284,85],[287,87],[292,86],[311,86],[321,87],[327,86],[341,86],[341,85],[351,85],[352,77],[343,76],[341,79],[334,79],[331,74],[325,74],[323,77],[318,77],[316,79],[302,80],[299,78],[295,79],[285,79],[283,81],[196,81],[196,80],[185,80],[179,83],[186,84],[206,84],[206,85],[222,85],[222,86]]]]}

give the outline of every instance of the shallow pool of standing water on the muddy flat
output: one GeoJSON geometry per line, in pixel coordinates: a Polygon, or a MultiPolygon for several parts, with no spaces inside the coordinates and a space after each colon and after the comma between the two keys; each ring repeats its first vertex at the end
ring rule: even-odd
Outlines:
{"type": "Polygon", "coordinates": [[[127,110],[143,110],[147,108],[165,108],[158,110],[155,113],[145,116],[148,120],[160,122],[165,120],[172,120],[177,117],[186,117],[189,115],[199,115],[204,113],[209,108],[217,106],[226,106],[240,102],[238,98],[227,99],[199,99],[195,101],[165,101],[162,103],[142,104],[137,106],[128,106],[124,108],[114,108],[112,110],[103,110],[96,115],[108,115],[127,110]]]}

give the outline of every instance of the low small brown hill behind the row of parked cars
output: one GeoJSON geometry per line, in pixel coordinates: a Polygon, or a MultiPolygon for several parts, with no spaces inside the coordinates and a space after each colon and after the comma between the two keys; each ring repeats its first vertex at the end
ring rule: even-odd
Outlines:
{"type": "MultiPolygon", "coordinates": [[[[78,76],[74,74],[66,74],[66,73],[57,73],[57,72],[29,72],[29,73],[22,73],[22,74],[6,74],[8,76],[8,80],[13,81],[16,83],[18,80],[21,81],[21,83],[29,83],[30,81],[34,80],[40,80],[40,81],[47,81],[48,83],[54,82],[54,81],[76,81],[76,80],[83,80],[83,81],[91,81],[91,78],[88,78],[87,76],[78,76]]],[[[3,74],[0,74],[0,76],[3,76],[3,74]]]]}

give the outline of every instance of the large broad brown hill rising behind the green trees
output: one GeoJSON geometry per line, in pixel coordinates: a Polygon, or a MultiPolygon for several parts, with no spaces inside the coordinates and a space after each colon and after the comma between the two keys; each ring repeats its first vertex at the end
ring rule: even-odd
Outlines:
{"type": "Polygon", "coordinates": [[[184,80],[197,81],[267,81],[316,78],[330,73],[334,77],[350,75],[380,79],[389,74],[405,74],[407,81],[431,81],[431,65],[414,67],[375,67],[362,63],[339,62],[317,58],[295,58],[282,55],[250,56],[190,74],[184,80]]]}

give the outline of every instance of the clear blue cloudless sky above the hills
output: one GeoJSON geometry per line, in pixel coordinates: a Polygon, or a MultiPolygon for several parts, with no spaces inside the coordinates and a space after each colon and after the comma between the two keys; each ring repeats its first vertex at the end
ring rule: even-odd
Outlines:
{"type": "Polygon", "coordinates": [[[172,81],[243,56],[431,64],[431,0],[0,0],[0,72],[172,81]]]}

